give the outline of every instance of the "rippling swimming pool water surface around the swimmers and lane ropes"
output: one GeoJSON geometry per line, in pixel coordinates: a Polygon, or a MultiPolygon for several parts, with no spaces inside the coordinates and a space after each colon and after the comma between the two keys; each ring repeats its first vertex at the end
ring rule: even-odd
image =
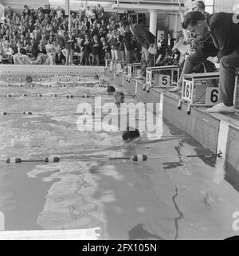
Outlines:
{"type": "MultiPolygon", "coordinates": [[[[59,86],[61,81],[42,81],[50,89],[38,81],[34,88],[2,88],[2,94],[87,93],[114,101],[89,79],[66,88],[59,86]],[[91,86],[84,86],[87,82],[91,86]]],[[[61,156],[60,163],[1,163],[0,214],[6,230],[98,229],[101,239],[221,239],[235,234],[237,171],[221,160],[187,158],[210,152],[163,123],[162,116],[158,132],[142,132],[139,141],[128,144],[119,131],[79,132],[73,113],[83,100],[92,102],[91,97],[1,100],[0,111],[35,113],[0,116],[1,160],[61,156]],[[177,137],[163,139],[172,135],[177,137]],[[147,162],[109,160],[135,154],[146,154],[147,162]]]]}

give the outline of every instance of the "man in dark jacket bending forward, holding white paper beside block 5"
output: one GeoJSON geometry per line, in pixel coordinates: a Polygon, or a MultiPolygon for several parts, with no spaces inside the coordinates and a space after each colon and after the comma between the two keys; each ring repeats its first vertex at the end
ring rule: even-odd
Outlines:
{"type": "Polygon", "coordinates": [[[135,37],[135,41],[139,46],[142,47],[142,57],[141,57],[141,71],[139,79],[142,79],[146,76],[147,66],[154,66],[154,57],[155,54],[149,52],[150,47],[155,46],[155,36],[148,31],[144,26],[133,24],[131,27],[131,33],[135,37]]]}

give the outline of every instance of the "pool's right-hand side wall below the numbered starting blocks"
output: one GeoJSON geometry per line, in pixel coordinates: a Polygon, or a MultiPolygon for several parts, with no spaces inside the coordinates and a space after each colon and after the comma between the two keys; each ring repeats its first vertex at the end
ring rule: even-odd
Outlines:
{"type": "Polygon", "coordinates": [[[105,69],[116,85],[123,86],[129,93],[145,103],[159,103],[163,99],[163,118],[177,128],[194,137],[203,147],[211,152],[222,152],[222,158],[239,172],[239,114],[208,113],[204,107],[192,107],[190,115],[186,113],[187,104],[182,102],[178,110],[180,95],[170,93],[167,89],[151,88],[143,90],[144,81],[131,79],[127,75],[109,72],[105,69]],[[161,96],[161,94],[163,94],[161,96]]]}

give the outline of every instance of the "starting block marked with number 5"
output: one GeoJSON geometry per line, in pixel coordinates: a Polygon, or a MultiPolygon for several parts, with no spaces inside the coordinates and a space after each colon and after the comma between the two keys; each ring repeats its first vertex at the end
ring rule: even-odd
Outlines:
{"type": "Polygon", "coordinates": [[[178,85],[179,72],[180,70],[178,65],[148,67],[146,69],[146,86],[148,88],[147,90],[149,90],[149,88],[153,85],[153,77],[155,77],[155,83],[153,87],[169,88],[170,85],[178,85]],[[163,74],[163,71],[169,71],[170,75],[163,74]]]}

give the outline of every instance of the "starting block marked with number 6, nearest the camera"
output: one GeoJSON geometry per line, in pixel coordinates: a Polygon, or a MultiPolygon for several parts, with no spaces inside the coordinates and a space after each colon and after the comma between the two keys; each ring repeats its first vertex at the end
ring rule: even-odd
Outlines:
{"type": "Polygon", "coordinates": [[[182,81],[182,96],[178,101],[178,109],[182,108],[182,100],[189,102],[188,115],[190,115],[191,106],[211,107],[217,104],[219,89],[218,87],[208,86],[206,81],[218,78],[219,72],[185,74],[182,81]]]}

